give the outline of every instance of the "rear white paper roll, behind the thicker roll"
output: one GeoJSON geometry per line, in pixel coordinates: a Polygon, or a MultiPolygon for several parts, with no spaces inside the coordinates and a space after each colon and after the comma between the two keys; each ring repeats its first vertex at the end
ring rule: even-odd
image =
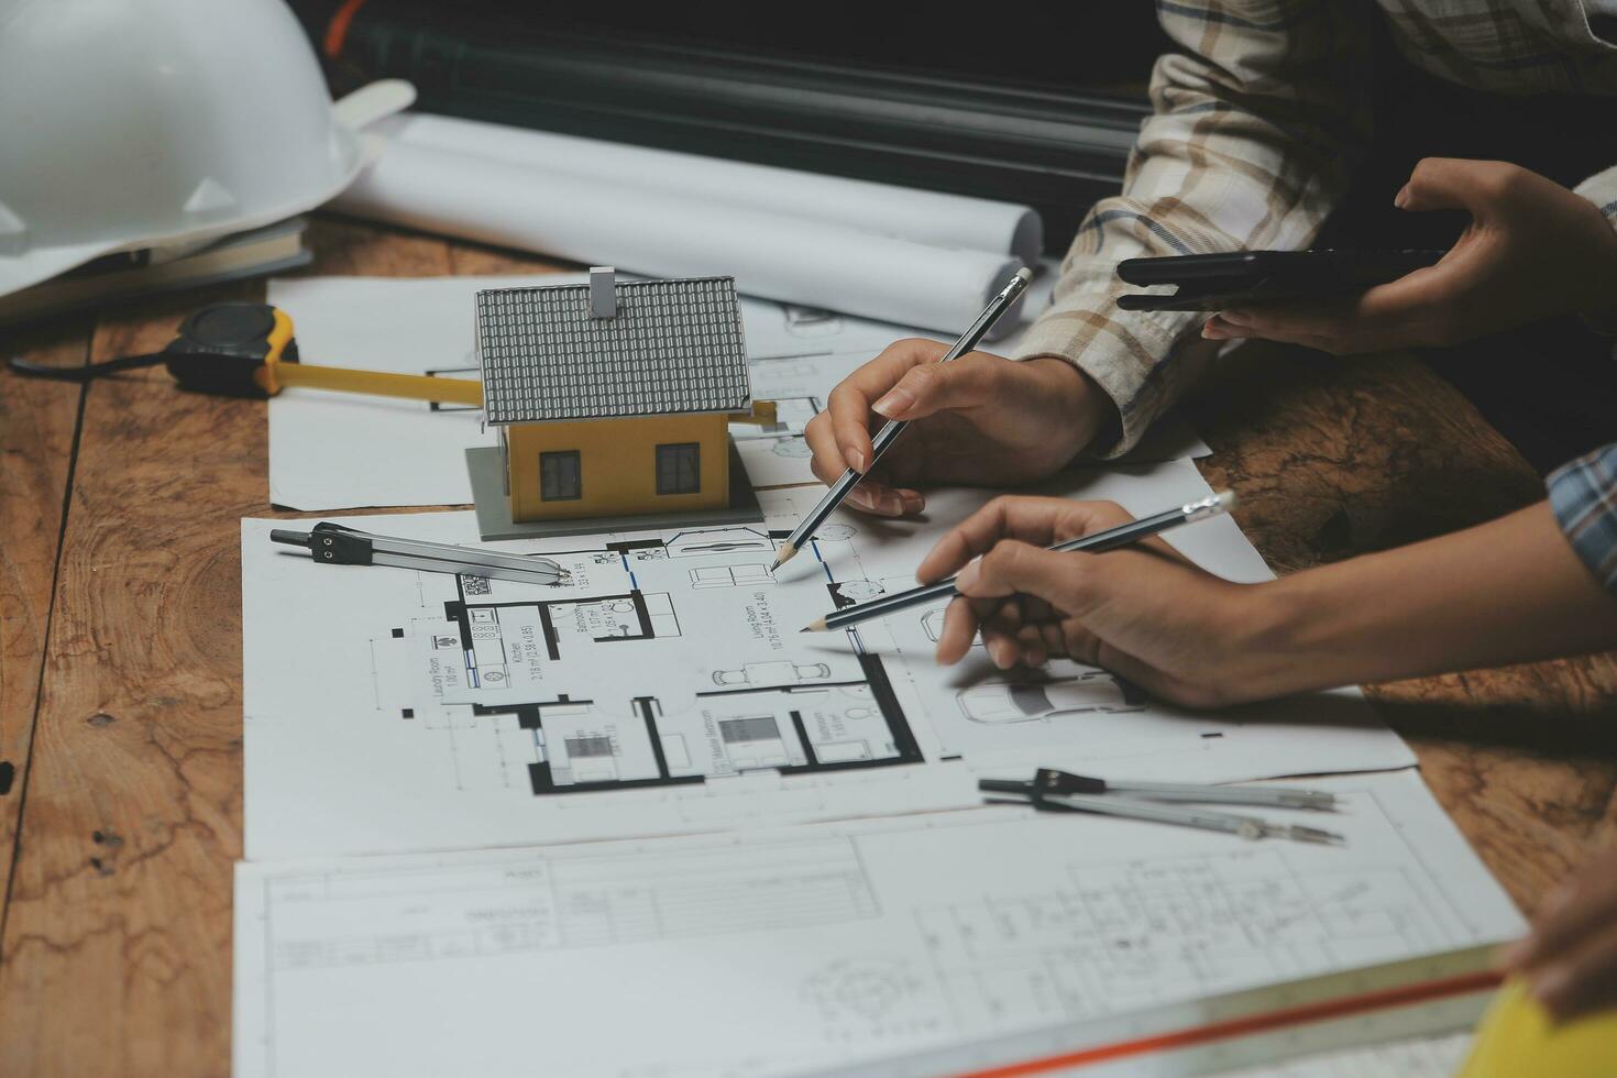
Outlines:
{"type": "Polygon", "coordinates": [[[632,184],[682,199],[720,200],[737,208],[805,217],[930,247],[1011,254],[1028,267],[1038,262],[1045,244],[1038,213],[1011,202],[430,113],[391,116],[372,129],[407,145],[493,157],[513,165],[632,184]]]}

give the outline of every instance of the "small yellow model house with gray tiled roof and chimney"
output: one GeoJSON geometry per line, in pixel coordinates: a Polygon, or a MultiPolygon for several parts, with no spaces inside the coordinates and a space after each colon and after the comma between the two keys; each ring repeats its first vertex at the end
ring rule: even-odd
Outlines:
{"type": "Polygon", "coordinates": [[[511,520],[729,504],[728,423],[752,417],[734,278],[483,291],[477,351],[511,520]]]}

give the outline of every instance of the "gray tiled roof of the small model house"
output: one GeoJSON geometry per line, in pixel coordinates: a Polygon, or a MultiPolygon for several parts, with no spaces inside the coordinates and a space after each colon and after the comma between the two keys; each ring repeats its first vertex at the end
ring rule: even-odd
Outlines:
{"type": "Polygon", "coordinates": [[[618,314],[590,317],[589,284],[477,293],[490,423],[747,407],[736,280],[616,283],[618,314]]]}

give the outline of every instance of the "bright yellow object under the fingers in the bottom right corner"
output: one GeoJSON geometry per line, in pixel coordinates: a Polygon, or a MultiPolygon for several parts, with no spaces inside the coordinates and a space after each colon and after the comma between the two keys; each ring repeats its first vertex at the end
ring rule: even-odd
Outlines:
{"type": "Polygon", "coordinates": [[[1554,1025],[1549,1012],[1510,979],[1476,1028],[1457,1078],[1611,1078],[1617,1075],[1617,1009],[1554,1025]]]}

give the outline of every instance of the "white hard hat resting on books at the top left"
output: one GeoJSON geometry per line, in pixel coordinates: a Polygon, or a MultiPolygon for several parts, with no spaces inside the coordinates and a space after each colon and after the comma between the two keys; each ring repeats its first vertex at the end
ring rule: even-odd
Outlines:
{"type": "Polygon", "coordinates": [[[281,0],[0,0],[0,296],[310,210],[412,97],[333,105],[281,0]]]}

